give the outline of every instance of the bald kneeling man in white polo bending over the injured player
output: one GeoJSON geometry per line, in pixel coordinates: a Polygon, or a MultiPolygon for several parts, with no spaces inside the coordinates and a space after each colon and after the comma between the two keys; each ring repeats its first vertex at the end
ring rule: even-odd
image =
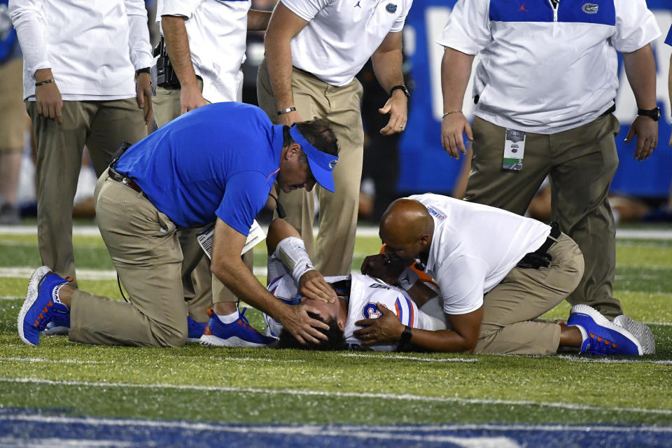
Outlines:
{"type": "MultiPolygon", "coordinates": [[[[386,253],[415,260],[436,280],[448,330],[404,328],[385,312],[358,321],[365,344],[398,340],[431,351],[547,355],[654,353],[651,330],[595,309],[572,308],[567,325],[535,321],[579,284],[584,263],[575,242],[554,224],[452,197],[426,194],[393,202],[380,221],[386,253]],[[403,333],[402,333],[403,332],[403,333]],[[633,335],[633,332],[636,334],[633,335]]],[[[405,274],[411,274],[407,269],[405,274]]],[[[405,287],[417,281],[405,278],[405,287]]]]}

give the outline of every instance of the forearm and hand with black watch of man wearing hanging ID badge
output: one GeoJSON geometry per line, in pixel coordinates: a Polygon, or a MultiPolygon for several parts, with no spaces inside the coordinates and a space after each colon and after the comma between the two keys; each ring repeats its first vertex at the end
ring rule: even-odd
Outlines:
{"type": "MultiPolygon", "coordinates": [[[[651,110],[656,107],[656,61],[648,43],[639,50],[623,52],[625,74],[635,94],[639,109],[651,110]]],[[[648,158],[658,144],[658,122],[651,117],[638,115],[630,126],[626,142],[637,136],[635,158],[648,158]]]]}

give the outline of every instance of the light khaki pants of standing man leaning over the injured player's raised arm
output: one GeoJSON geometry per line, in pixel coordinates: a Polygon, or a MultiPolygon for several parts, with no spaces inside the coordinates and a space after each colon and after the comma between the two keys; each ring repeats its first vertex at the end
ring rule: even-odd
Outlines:
{"type": "MultiPolygon", "coordinates": [[[[334,87],[299,69],[292,71],[294,106],[304,120],[326,118],[336,134],[339,160],[334,169],[336,192],[319,185],[313,192],[303,189],[280,193],[286,221],[296,228],[306,244],[315,267],[324,275],[349,274],[357,230],[359,185],[362,176],[364,130],[360,113],[362,85],[353,80],[334,87]],[[318,235],[313,245],[314,194],[320,203],[318,235]]],[[[259,106],[276,122],[276,104],[266,61],[257,76],[259,106]]]]}

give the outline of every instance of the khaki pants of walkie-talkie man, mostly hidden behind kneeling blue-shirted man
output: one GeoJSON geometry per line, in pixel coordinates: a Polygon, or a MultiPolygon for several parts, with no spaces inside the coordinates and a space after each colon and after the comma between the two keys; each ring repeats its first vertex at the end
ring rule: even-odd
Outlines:
{"type": "MultiPolygon", "coordinates": [[[[197,80],[203,90],[203,81],[197,80]]],[[[154,116],[161,127],[180,116],[180,90],[157,87],[154,97],[154,116]]],[[[200,228],[180,229],[178,236],[183,252],[182,284],[184,298],[187,301],[189,316],[197,322],[208,320],[207,309],[213,303],[236,302],[238,298],[219,281],[210,271],[210,259],[204,255],[196,240],[200,228]]],[[[253,269],[253,253],[248,251],[243,260],[250,270],[253,269]]]]}

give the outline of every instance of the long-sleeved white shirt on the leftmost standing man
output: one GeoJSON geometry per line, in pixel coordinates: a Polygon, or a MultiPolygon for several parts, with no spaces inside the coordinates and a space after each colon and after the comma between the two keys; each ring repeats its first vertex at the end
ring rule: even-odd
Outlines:
{"type": "Polygon", "coordinates": [[[24,58],[24,98],[35,71],[50,68],[66,101],[136,96],[135,71],[152,65],[142,0],[12,0],[24,58]]]}

